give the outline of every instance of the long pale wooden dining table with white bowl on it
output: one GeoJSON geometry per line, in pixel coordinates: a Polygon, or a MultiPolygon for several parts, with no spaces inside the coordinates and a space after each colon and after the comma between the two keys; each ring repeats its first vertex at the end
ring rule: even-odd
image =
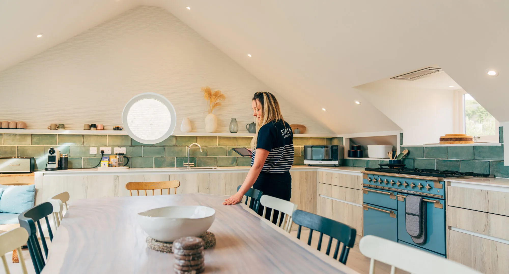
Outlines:
{"type": "Polygon", "coordinates": [[[245,204],[222,205],[225,198],[192,193],[75,201],[54,231],[42,273],[173,273],[173,254],[147,247],[136,215],[169,205],[205,205],[216,211],[208,230],[216,246],[205,250],[205,273],[358,274],[245,204]]]}

